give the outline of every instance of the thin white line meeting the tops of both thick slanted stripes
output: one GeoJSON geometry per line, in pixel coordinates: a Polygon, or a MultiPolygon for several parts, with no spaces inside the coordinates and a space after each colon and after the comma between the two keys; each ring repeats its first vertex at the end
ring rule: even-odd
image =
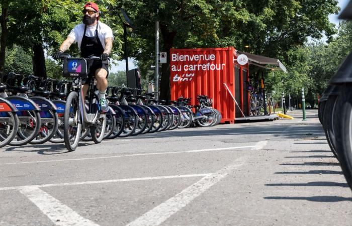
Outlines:
{"type": "Polygon", "coordinates": [[[138,178],[126,178],[126,179],[114,179],[114,180],[82,181],[82,182],[58,183],[58,184],[27,185],[27,186],[16,186],[16,187],[0,187],[0,191],[25,189],[27,187],[33,187],[33,186],[34,187],[55,187],[55,186],[67,186],[67,185],[102,184],[102,183],[127,182],[127,181],[139,181],[139,180],[204,177],[209,175],[210,173],[200,173],[200,174],[185,174],[185,175],[158,176],[158,177],[138,177],[138,178]]]}

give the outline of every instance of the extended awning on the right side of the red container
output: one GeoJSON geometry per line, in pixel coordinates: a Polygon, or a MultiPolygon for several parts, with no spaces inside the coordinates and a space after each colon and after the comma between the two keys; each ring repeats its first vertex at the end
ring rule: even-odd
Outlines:
{"type": "Polygon", "coordinates": [[[249,64],[253,64],[258,67],[267,68],[267,69],[274,69],[274,70],[281,69],[282,71],[287,73],[286,67],[278,59],[246,53],[238,50],[237,50],[237,54],[246,55],[248,57],[249,64]],[[278,66],[278,67],[271,67],[270,65],[278,66]]]}

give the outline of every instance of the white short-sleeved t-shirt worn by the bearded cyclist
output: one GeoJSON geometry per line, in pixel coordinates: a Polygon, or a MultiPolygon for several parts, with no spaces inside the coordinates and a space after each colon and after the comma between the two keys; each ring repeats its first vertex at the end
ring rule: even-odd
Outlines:
{"type": "MultiPolygon", "coordinates": [[[[74,39],[74,43],[76,42],[78,43],[79,50],[80,50],[80,44],[82,42],[82,38],[84,34],[84,26],[85,26],[84,24],[76,25],[68,35],[68,37],[71,37],[74,39]]],[[[94,37],[96,35],[96,28],[97,28],[97,25],[87,26],[87,29],[85,31],[85,36],[94,37]]],[[[103,48],[105,48],[106,38],[112,37],[114,40],[113,31],[108,25],[102,22],[98,22],[98,37],[100,42],[102,43],[103,48]]]]}

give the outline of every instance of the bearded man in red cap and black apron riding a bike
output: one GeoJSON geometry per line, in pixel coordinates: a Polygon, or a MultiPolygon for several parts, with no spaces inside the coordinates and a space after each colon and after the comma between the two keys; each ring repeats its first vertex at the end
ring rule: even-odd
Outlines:
{"type": "Polygon", "coordinates": [[[113,47],[113,32],[111,28],[99,22],[98,5],[88,2],[83,8],[83,23],[76,25],[67,36],[67,39],[61,44],[59,51],[54,54],[54,58],[58,59],[69,49],[69,47],[77,42],[82,58],[91,56],[100,57],[101,60],[95,60],[88,68],[88,78],[82,80],[82,90],[84,96],[89,88],[90,81],[93,76],[97,79],[97,88],[99,90],[98,98],[102,111],[108,110],[108,102],[105,98],[108,87],[109,74],[109,54],[113,47]]]}

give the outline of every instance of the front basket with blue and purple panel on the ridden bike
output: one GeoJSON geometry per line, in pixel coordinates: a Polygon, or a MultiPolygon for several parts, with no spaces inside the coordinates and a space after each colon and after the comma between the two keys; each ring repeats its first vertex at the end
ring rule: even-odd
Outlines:
{"type": "Polygon", "coordinates": [[[66,58],[63,61],[63,76],[68,78],[87,77],[87,62],[84,58],[66,58]]]}

